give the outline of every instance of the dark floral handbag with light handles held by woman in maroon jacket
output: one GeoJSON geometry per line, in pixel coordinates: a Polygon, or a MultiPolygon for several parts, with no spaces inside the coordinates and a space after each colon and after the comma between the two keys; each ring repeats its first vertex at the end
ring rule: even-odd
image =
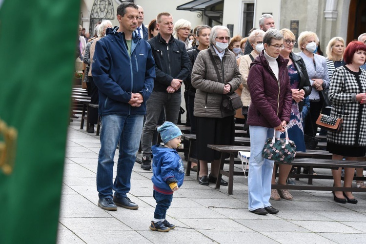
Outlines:
{"type": "Polygon", "coordinates": [[[265,159],[277,162],[291,163],[296,156],[295,142],[288,140],[287,128],[285,128],[286,138],[276,138],[274,130],[273,138],[267,138],[264,143],[262,156],[265,159]]]}

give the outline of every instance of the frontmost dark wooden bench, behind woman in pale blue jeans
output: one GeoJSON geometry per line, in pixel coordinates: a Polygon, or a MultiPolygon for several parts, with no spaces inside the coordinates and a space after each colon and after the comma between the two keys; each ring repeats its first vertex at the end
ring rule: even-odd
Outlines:
{"type": "MultiPolygon", "coordinates": [[[[239,151],[250,151],[249,146],[229,146],[229,145],[207,145],[209,148],[221,152],[222,156],[220,158],[220,169],[219,175],[217,177],[216,189],[220,189],[220,181],[222,175],[229,178],[227,193],[232,194],[233,192],[233,179],[234,175],[244,175],[243,171],[234,171],[234,160],[239,151]],[[224,154],[228,153],[229,158],[229,171],[224,170],[224,154]]],[[[275,162],[280,164],[279,162],[275,162]]],[[[297,152],[296,158],[293,162],[288,163],[290,165],[298,166],[310,166],[310,167],[325,167],[325,168],[339,168],[339,167],[355,167],[355,168],[365,168],[366,162],[350,162],[350,161],[335,161],[331,160],[331,154],[327,151],[322,150],[306,150],[306,152],[297,152]]],[[[250,172],[249,172],[250,174],[250,172]]],[[[290,177],[294,175],[290,175],[290,177]]],[[[297,174],[295,176],[298,176],[297,174]]],[[[332,176],[323,177],[314,175],[302,175],[301,178],[314,178],[314,179],[333,179],[332,176]]],[[[360,180],[364,180],[360,177],[360,180]]],[[[357,178],[359,179],[359,178],[357,178]]],[[[335,191],[365,191],[366,188],[347,188],[347,187],[331,187],[331,186],[311,186],[311,185],[272,185],[274,189],[301,189],[301,190],[335,190],[335,191]],[[357,189],[357,190],[356,190],[357,189]]]]}

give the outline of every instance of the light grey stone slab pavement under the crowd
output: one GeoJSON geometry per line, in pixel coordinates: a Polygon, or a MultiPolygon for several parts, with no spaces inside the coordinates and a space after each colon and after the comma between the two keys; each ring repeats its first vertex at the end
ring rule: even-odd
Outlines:
{"type": "MultiPolygon", "coordinates": [[[[74,119],[67,135],[58,244],[366,243],[365,193],[354,194],[358,204],[341,204],[330,192],[292,190],[293,201],[271,202],[280,210],[277,215],[259,216],[247,209],[243,176],[234,177],[234,194],[227,195],[227,186],[216,190],[214,184],[198,184],[195,172],[185,176],[167,212],[167,220],[177,227],[167,233],[151,231],[152,172],[134,166],[128,197],[139,204],[138,210],[101,209],[96,190],[99,137],[79,128],[80,119],[74,119]]],[[[329,169],[317,171],[330,174],[329,169]]]]}

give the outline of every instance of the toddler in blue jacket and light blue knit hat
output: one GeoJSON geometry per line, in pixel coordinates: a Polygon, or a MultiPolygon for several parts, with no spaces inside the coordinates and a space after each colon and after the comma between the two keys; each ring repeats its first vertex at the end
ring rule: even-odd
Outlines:
{"type": "Polygon", "coordinates": [[[172,122],[164,122],[158,127],[158,132],[164,142],[163,145],[152,146],[153,154],[153,197],[156,201],[154,219],[150,229],[167,232],[175,228],[166,219],[166,210],[173,200],[173,192],[183,184],[184,167],[181,157],[176,150],[181,144],[182,132],[172,122]]]}

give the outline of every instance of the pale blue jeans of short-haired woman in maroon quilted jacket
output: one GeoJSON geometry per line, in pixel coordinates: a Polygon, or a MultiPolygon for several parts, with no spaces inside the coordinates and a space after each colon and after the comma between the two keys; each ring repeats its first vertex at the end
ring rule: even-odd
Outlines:
{"type": "MultiPolygon", "coordinates": [[[[273,138],[273,128],[250,125],[249,133],[248,209],[253,211],[271,205],[269,198],[271,197],[274,161],[264,159],[262,151],[267,138],[273,138]]],[[[280,137],[280,134],[281,132],[276,132],[276,137],[280,137]]]]}

